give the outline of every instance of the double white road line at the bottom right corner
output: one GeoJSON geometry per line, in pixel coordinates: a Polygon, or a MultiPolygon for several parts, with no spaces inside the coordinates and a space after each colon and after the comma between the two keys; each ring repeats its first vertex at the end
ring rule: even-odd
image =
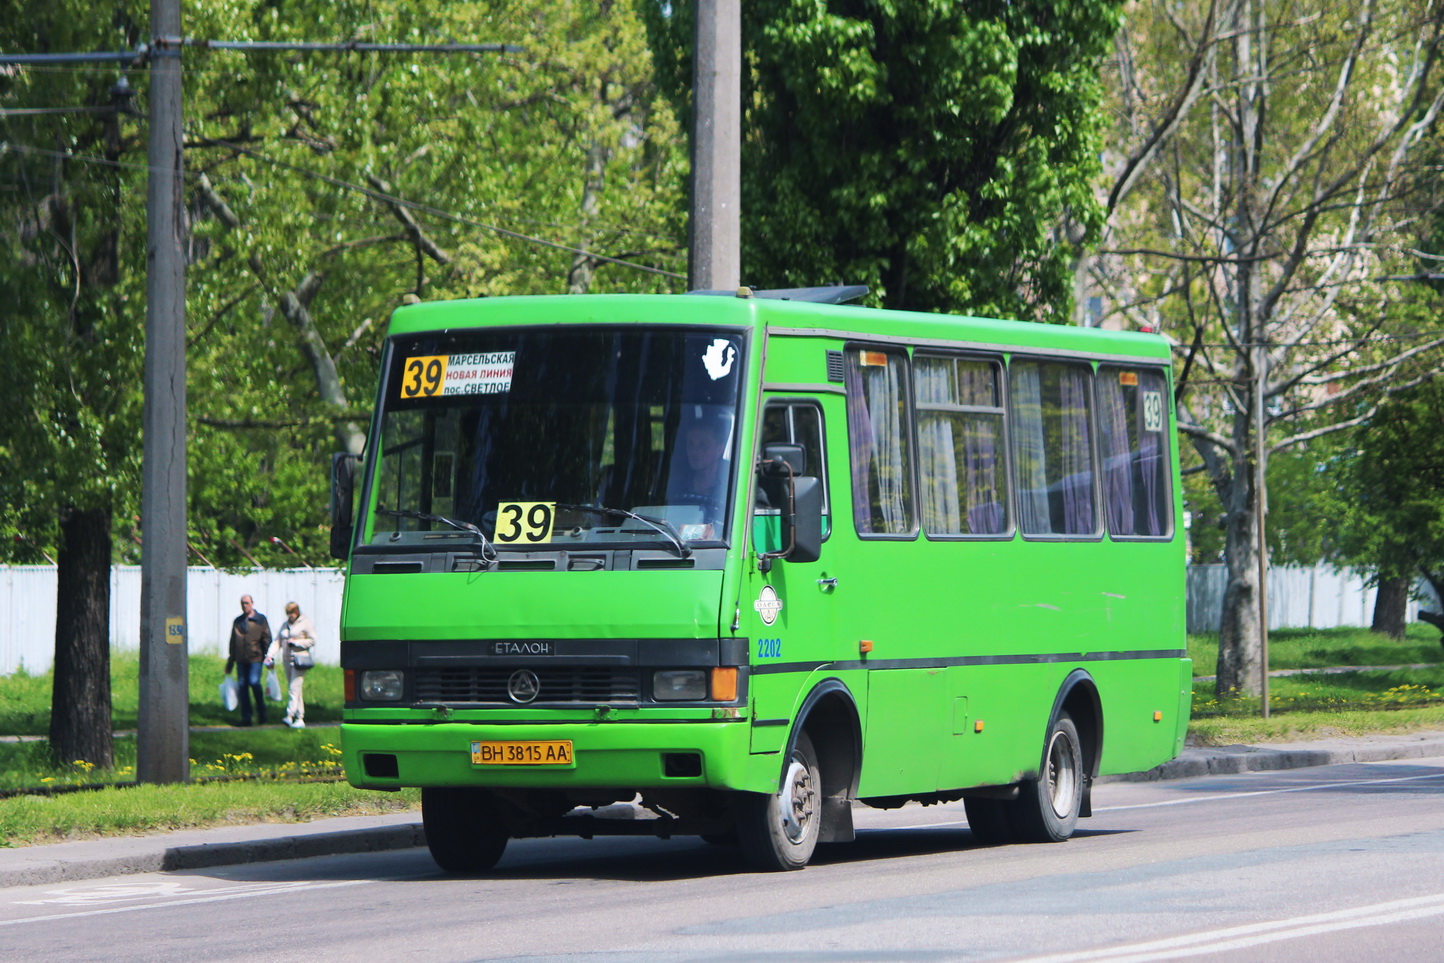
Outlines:
{"type": "Polygon", "coordinates": [[[1229,927],[1225,930],[1207,930],[1190,933],[1187,936],[1152,940],[1148,943],[1134,943],[1112,946],[1097,950],[1080,950],[1077,953],[1056,953],[1048,956],[1030,956],[1017,963],[1083,963],[1084,960],[1109,960],[1109,963],[1148,963],[1148,960],[1168,960],[1184,956],[1203,956],[1207,953],[1223,953],[1226,950],[1245,950],[1264,943],[1278,943],[1279,940],[1297,940],[1320,933],[1334,933],[1337,930],[1356,930],[1359,927],[1378,927],[1404,920],[1419,920],[1444,914],[1444,894],[1431,897],[1412,897],[1409,899],[1392,899],[1376,902],[1367,907],[1353,907],[1350,910],[1334,910],[1333,912],[1315,912],[1307,917],[1291,920],[1271,920],[1268,923],[1251,923],[1248,925],[1229,927]]]}

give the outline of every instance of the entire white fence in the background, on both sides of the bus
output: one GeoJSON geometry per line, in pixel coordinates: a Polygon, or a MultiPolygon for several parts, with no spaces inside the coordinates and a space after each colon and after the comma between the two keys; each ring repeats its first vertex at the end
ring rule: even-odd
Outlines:
{"type": "MultiPolygon", "coordinates": [[[[316,622],[316,658],[339,663],[341,585],[334,569],[287,569],[227,573],[189,569],[186,625],[192,653],[224,655],[241,595],[251,595],[271,628],[286,618],[286,602],[316,622]]],[[[116,566],[110,582],[110,638],[117,651],[140,648],[140,566],[116,566]]],[[[1222,565],[1188,567],[1188,631],[1216,632],[1227,575],[1222,565]]],[[[1269,570],[1269,628],[1369,625],[1375,591],[1363,578],[1330,567],[1269,570]]],[[[1418,605],[1409,602],[1409,619],[1418,605]]],[[[0,566],[0,676],[25,666],[43,673],[55,654],[55,567],[0,566]]]]}

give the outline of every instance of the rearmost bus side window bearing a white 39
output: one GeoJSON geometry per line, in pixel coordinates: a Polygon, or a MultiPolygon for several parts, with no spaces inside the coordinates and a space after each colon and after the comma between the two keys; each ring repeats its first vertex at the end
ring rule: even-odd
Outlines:
{"type": "Polygon", "coordinates": [[[1173,534],[1162,371],[1099,368],[1097,416],[1108,530],[1121,537],[1173,534]]]}

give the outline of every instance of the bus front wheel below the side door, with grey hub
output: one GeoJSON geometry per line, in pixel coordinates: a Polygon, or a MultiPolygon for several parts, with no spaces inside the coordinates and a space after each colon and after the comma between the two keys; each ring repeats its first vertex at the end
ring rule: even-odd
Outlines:
{"type": "Polygon", "coordinates": [[[799,732],[778,790],[747,793],[738,803],[736,840],[755,869],[801,869],[817,849],[820,830],[822,770],[812,739],[799,732]]]}

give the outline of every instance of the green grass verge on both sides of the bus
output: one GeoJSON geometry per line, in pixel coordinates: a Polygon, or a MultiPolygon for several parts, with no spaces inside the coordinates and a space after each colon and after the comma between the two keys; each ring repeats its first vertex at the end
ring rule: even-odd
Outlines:
{"type": "MultiPolygon", "coordinates": [[[[1188,640],[1194,673],[1210,676],[1217,637],[1188,640]]],[[[1212,681],[1194,683],[1193,745],[1289,742],[1444,729],[1444,648],[1435,629],[1414,625],[1401,642],[1367,629],[1287,629],[1269,637],[1272,668],[1411,666],[1427,668],[1350,671],[1272,679],[1269,719],[1258,699],[1219,702],[1212,681]]],[[[238,713],[221,709],[217,684],[224,660],[191,657],[191,725],[228,726],[238,713]]],[[[111,666],[116,728],[136,726],[139,660],[111,666]]],[[[0,677],[0,735],[49,729],[51,677],[0,677]]],[[[280,709],[276,703],[270,703],[280,709]]],[[[341,670],[319,666],[306,676],[306,720],[341,718],[341,670]]],[[[0,798],[0,846],[27,846],[91,836],[155,833],[228,823],[306,822],[326,816],[412,810],[419,793],[354,790],[336,765],[336,731],[251,728],[191,733],[186,785],[133,785],[95,791],[0,798]],[[232,777],[224,783],[206,783],[232,777]],[[234,778],[244,777],[244,778],[234,778]],[[323,780],[323,781],[303,781],[323,780]]],[[[136,741],[116,741],[116,768],[52,767],[43,741],[0,742],[0,790],[134,780],[136,741]]]]}

